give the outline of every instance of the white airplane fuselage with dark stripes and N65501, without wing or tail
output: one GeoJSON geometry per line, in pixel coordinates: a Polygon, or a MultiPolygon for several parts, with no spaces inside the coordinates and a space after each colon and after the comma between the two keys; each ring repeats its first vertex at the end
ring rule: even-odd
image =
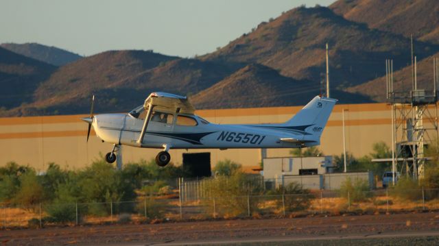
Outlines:
{"type": "MultiPolygon", "coordinates": [[[[184,114],[180,114],[184,115],[184,114]]],[[[94,116],[93,128],[99,138],[107,143],[133,147],[163,149],[252,149],[252,148],[294,148],[319,145],[320,139],[305,132],[313,125],[218,125],[206,123],[196,115],[187,115],[198,125],[176,124],[176,114],[172,123],[150,121],[145,136],[139,141],[143,119],[130,114],[99,114],[94,116]],[[282,141],[294,138],[300,143],[282,141]]],[[[315,131],[319,131],[318,127],[315,131]]],[[[320,129],[321,130],[321,129],[320,129]]]]}

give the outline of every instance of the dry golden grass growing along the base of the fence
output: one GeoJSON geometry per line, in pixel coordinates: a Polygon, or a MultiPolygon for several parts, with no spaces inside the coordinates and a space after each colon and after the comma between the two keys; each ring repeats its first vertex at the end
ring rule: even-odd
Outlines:
{"type": "MultiPolygon", "coordinates": [[[[308,210],[302,212],[287,212],[285,215],[287,217],[297,217],[297,216],[307,216],[309,214],[319,214],[320,212],[324,214],[334,214],[340,215],[346,212],[348,213],[368,213],[377,214],[379,212],[401,212],[401,211],[413,211],[413,210],[439,210],[439,199],[434,199],[430,201],[406,201],[401,200],[396,197],[388,197],[389,204],[387,204],[387,199],[385,196],[377,196],[369,199],[368,201],[362,201],[358,203],[352,203],[348,206],[348,201],[340,197],[331,198],[316,198],[311,200],[311,206],[308,210]]],[[[208,206],[204,206],[206,201],[195,200],[195,201],[185,201],[182,207],[183,219],[189,220],[205,220],[211,219],[214,214],[208,206]],[[207,209],[206,209],[207,208],[207,209]]],[[[163,213],[163,219],[151,221],[149,218],[145,218],[142,212],[125,214],[128,216],[128,221],[125,223],[157,223],[162,221],[180,221],[180,202],[178,200],[170,201],[166,205],[169,210],[163,213]]],[[[219,206],[217,206],[217,211],[215,218],[222,217],[224,219],[235,219],[237,214],[230,213],[228,211],[222,211],[219,206]]],[[[257,208],[251,209],[251,217],[254,219],[262,218],[264,215],[271,216],[283,216],[282,204],[279,203],[276,197],[268,197],[267,199],[260,200],[257,203],[257,208]]],[[[246,215],[246,214],[244,214],[246,215]]],[[[42,212],[41,217],[46,217],[47,214],[42,212]]],[[[33,212],[31,210],[25,210],[23,208],[3,208],[0,210],[0,222],[1,227],[27,227],[27,221],[29,219],[39,219],[40,214],[37,210],[33,212]]],[[[104,224],[104,223],[119,223],[119,214],[113,214],[113,216],[84,216],[80,218],[80,223],[86,224],[104,224]]],[[[74,225],[75,223],[64,223],[64,225],[74,225]]]]}

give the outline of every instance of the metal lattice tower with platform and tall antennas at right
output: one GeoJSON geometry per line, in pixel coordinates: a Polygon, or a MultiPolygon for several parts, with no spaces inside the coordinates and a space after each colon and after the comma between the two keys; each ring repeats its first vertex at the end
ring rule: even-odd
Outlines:
{"type": "MultiPolygon", "coordinates": [[[[412,60],[412,90],[395,89],[393,60],[385,60],[387,100],[392,106],[392,171],[423,178],[425,149],[438,138],[439,59],[433,62],[433,89],[418,88],[416,56],[412,60]]],[[[402,82],[401,82],[402,85],[402,82]]],[[[403,87],[403,86],[401,86],[403,87]]]]}

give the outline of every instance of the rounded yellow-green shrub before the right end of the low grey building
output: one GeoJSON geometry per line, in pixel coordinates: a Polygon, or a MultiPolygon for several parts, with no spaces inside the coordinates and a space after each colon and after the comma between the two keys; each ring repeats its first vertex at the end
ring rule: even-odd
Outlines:
{"type": "Polygon", "coordinates": [[[372,195],[368,182],[363,179],[356,178],[352,181],[351,177],[346,177],[340,186],[340,196],[353,202],[366,201],[372,195]]]}

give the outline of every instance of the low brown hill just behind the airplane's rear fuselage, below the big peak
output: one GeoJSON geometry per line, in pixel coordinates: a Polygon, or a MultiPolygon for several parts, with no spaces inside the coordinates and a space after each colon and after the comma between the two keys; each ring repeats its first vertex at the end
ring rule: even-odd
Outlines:
{"type": "MultiPolygon", "coordinates": [[[[250,64],[191,97],[195,108],[252,108],[305,105],[318,95],[320,83],[280,75],[261,64],[250,64]]],[[[332,92],[344,102],[368,102],[368,97],[332,92]],[[347,99],[347,100],[346,100],[347,99]]]]}

